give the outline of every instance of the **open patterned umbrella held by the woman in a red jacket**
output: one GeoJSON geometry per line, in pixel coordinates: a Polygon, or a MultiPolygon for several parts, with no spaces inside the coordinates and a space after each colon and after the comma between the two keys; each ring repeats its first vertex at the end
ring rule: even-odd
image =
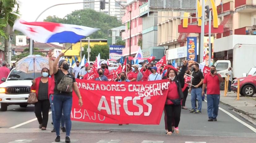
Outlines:
{"type": "Polygon", "coordinates": [[[43,68],[49,69],[48,58],[40,55],[28,55],[25,58],[20,59],[16,63],[16,70],[23,71],[24,73],[41,73],[43,68]]]}

